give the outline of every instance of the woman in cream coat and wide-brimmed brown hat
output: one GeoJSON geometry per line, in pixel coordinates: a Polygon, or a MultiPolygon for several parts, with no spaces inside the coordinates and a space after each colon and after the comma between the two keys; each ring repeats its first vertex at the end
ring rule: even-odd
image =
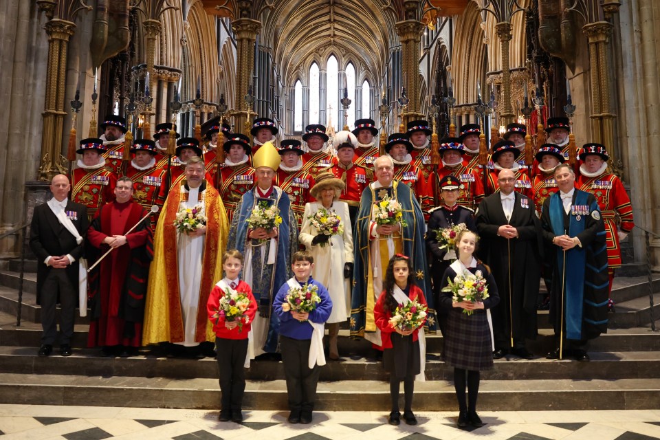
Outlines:
{"type": "Polygon", "coordinates": [[[349,317],[348,306],[351,302],[347,298],[344,273],[353,272],[353,232],[349,217],[349,206],[340,201],[339,197],[344,190],[344,182],[337,179],[332,173],[325,172],[316,176],[316,184],[311,188],[311,196],[318,201],[305,204],[303,228],[300,229],[298,241],[314,255],[314,271],[312,276],[316,281],[327,287],[332,300],[332,313],[327,320],[329,333],[329,358],[339,359],[337,339],[340,322],[349,317]],[[320,208],[333,210],[344,222],[344,234],[319,235],[318,231],[309,221],[320,208]],[[322,244],[325,245],[322,246],[322,244]]]}

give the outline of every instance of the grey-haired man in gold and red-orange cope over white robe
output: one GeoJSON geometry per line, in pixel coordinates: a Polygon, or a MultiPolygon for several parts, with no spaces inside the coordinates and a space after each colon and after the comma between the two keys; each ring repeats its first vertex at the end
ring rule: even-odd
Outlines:
{"type": "Polygon", "coordinates": [[[185,179],[173,186],[158,219],[149,270],[142,344],[172,342],[212,351],[215,335],[206,303],[222,278],[228,221],[222,200],[206,179],[200,157],[188,159],[185,179]],[[180,232],[177,212],[186,208],[206,216],[206,224],[180,232]]]}

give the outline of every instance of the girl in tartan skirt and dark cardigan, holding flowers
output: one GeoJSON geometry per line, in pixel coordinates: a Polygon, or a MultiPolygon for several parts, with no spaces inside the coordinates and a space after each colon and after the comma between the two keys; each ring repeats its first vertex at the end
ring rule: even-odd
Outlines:
{"type": "MultiPolygon", "coordinates": [[[[459,419],[456,425],[465,428],[468,424],[478,428],[483,422],[476,414],[476,398],[479,392],[479,372],[493,366],[492,330],[489,324],[490,309],[500,302],[497,286],[489,268],[477,261],[473,254],[478,236],[466,230],[456,236],[458,259],[445,270],[441,290],[453,281],[456,274],[466,270],[472,274],[481,272],[485,278],[489,297],[483,302],[454,301],[452,292],[441,292],[440,305],[450,309],[445,336],[444,361],[454,367],[454,388],[459,401],[459,419]],[[471,314],[464,313],[471,311],[471,314]],[[465,402],[465,384],[467,383],[467,403],[465,402]]],[[[477,274],[478,275],[478,274],[477,274]]]]}

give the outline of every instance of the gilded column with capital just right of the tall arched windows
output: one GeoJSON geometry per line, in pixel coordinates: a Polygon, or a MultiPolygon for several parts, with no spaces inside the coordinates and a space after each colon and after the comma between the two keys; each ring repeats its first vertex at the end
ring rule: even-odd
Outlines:
{"type": "Polygon", "coordinates": [[[399,42],[401,43],[402,85],[410,102],[403,115],[404,126],[416,119],[423,119],[419,111],[419,44],[425,25],[417,20],[399,21],[395,24],[399,42]]]}

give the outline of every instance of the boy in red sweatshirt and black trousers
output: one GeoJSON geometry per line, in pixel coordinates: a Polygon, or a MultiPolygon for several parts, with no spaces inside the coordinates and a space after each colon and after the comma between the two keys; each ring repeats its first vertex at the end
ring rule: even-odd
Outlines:
{"type": "Polygon", "coordinates": [[[241,405],[245,391],[245,358],[248,355],[248,333],[254,319],[257,305],[252,289],[239,280],[243,268],[243,254],[237,250],[228,250],[222,256],[225,278],[212,289],[206,309],[208,318],[213,322],[215,345],[217,349],[218,369],[220,371],[221,410],[219,421],[243,421],[241,405]],[[248,304],[230,305],[240,310],[240,319],[227,318],[220,301],[223,296],[238,292],[248,298],[248,304]]]}

